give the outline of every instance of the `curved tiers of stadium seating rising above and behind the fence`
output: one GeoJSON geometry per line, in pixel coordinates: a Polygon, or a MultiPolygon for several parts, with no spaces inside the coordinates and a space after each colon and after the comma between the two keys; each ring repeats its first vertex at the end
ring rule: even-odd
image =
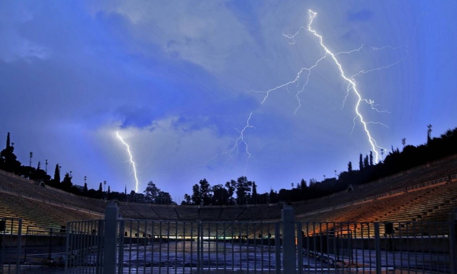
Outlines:
{"type": "MultiPolygon", "coordinates": [[[[109,201],[108,201],[109,202],[109,201]]],[[[100,219],[107,201],[74,195],[0,170],[0,216],[27,225],[59,228],[68,221],[100,219]]],[[[275,220],[276,204],[177,206],[119,202],[121,217],[157,220],[275,220]]],[[[445,220],[457,207],[457,155],[355,186],[354,191],[293,204],[296,219],[313,221],[445,220]]]]}

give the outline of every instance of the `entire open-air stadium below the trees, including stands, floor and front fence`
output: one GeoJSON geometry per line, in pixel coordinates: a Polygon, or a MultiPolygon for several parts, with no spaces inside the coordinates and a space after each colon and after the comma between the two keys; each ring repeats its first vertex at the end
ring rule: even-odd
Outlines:
{"type": "Polygon", "coordinates": [[[1,273],[456,273],[456,204],[457,155],[262,205],[92,199],[1,170],[1,273]]]}

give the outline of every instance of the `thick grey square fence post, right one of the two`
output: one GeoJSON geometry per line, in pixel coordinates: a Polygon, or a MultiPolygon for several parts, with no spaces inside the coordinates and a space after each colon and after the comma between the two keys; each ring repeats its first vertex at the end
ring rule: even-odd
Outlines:
{"type": "Polygon", "coordinates": [[[295,217],[291,205],[284,205],[283,217],[283,271],[295,273],[295,217]]]}

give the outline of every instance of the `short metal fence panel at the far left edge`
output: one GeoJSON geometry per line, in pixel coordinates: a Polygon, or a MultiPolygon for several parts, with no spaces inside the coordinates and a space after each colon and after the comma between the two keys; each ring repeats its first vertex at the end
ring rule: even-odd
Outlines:
{"type": "Polygon", "coordinates": [[[19,274],[22,219],[0,217],[0,274],[19,274]]]}

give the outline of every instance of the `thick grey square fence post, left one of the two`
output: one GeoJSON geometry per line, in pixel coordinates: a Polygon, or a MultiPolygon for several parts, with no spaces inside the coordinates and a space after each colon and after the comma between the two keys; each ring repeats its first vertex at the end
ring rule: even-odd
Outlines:
{"type": "Polygon", "coordinates": [[[115,274],[116,272],[117,216],[117,205],[114,203],[108,204],[105,209],[103,274],[115,274]]]}

